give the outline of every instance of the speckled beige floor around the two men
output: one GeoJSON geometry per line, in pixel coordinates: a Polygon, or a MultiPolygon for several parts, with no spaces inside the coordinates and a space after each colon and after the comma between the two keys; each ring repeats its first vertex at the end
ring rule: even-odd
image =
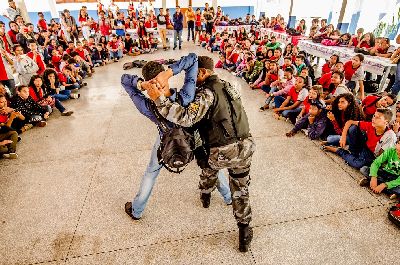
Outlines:
{"type": "MultiPolygon", "coordinates": [[[[188,52],[208,54],[185,43],[141,59],[188,52]]],[[[194,163],[180,175],[164,170],[132,221],[123,205],[157,130],[120,86],[131,59],[97,68],[82,98],[66,103],[72,117],[54,114],[22,136],[18,160],[0,161],[1,264],[395,264],[400,232],[386,218],[388,199],[360,188],[359,174],[317,143],[286,139],[291,126],[258,111],[262,94],[221,70],[241,89],[257,142],[251,251],[237,251],[232,211],[217,193],[201,207],[194,163]]]]}

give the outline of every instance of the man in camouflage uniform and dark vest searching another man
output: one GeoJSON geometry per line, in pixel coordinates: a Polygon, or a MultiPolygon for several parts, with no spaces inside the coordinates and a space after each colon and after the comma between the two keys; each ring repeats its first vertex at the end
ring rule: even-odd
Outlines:
{"type": "Polygon", "coordinates": [[[188,107],[165,95],[168,77],[159,75],[147,92],[162,116],[183,127],[194,127],[205,139],[208,159],[200,176],[201,200],[209,200],[218,170],[227,168],[232,193],[233,214],[239,227],[239,250],[248,251],[253,232],[248,186],[255,143],[249,132],[240,93],[213,73],[213,60],[198,57],[199,73],[194,101],[188,107]]]}

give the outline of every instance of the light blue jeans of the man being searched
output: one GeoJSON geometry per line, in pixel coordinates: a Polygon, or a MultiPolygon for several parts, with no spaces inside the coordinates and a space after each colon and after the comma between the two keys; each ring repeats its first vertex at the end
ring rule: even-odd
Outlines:
{"type": "MultiPolygon", "coordinates": [[[[158,163],[157,150],[160,146],[160,137],[157,136],[157,140],[154,143],[153,150],[151,152],[150,162],[147,166],[146,172],[142,176],[142,181],[140,183],[140,188],[136,197],[132,202],[132,214],[136,218],[140,218],[144,209],[146,208],[147,201],[150,198],[151,192],[153,190],[154,184],[158,175],[160,174],[162,165],[158,163]]],[[[229,184],[227,178],[224,176],[222,171],[218,172],[218,184],[217,189],[224,198],[225,203],[231,203],[231,192],[229,189],[229,184]]]]}

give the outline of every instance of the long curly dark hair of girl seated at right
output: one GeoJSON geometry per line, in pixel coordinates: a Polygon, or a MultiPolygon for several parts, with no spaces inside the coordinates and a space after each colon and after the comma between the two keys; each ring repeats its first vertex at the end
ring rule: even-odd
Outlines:
{"type": "Polygon", "coordinates": [[[354,95],[351,93],[341,94],[335,98],[332,103],[332,113],[341,128],[343,128],[345,123],[349,120],[360,121],[364,119],[364,115],[360,109],[360,106],[357,104],[354,95]],[[344,121],[342,120],[342,111],[339,110],[338,107],[338,103],[341,98],[344,98],[349,103],[344,111],[344,121]]]}

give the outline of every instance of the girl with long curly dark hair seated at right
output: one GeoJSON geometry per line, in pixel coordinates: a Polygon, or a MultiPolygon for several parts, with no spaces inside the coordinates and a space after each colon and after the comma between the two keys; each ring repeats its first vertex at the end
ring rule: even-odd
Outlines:
{"type": "MultiPolygon", "coordinates": [[[[326,104],[327,101],[325,101],[326,104]]],[[[338,95],[331,103],[330,111],[327,113],[330,121],[331,132],[326,141],[321,145],[339,146],[343,128],[349,120],[364,120],[364,114],[357,105],[356,99],[350,92],[338,95]]]]}

